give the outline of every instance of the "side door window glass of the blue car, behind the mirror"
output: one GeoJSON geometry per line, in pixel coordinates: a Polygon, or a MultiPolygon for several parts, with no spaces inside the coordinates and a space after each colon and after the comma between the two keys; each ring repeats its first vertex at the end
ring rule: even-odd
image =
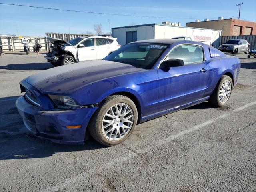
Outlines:
{"type": "Polygon", "coordinates": [[[168,59],[182,59],[185,65],[203,62],[203,48],[197,45],[177,46],[168,54],[166,60],[168,59]]]}

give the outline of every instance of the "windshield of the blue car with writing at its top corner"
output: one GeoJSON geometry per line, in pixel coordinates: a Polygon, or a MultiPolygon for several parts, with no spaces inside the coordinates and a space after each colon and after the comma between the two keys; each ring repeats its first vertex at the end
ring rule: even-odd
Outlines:
{"type": "Polygon", "coordinates": [[[156,43],[131,43],[122,46],[103,60],[130,64],[151,69],[168,45],[156,43]]]}

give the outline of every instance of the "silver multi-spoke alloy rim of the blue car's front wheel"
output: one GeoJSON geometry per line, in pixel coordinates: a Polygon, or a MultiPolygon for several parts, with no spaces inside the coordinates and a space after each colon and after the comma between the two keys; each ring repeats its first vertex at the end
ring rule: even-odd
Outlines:
{"type": "Polygon", "coordinates": [[[102,132],[111,141],[124,138],[134,123],[132,108],[125,103],[118,103],[110,107],[102,119],[102,132]]]}

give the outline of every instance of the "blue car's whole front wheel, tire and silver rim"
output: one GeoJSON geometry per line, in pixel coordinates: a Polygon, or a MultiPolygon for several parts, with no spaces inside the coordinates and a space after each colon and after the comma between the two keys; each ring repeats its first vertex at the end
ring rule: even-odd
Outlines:
{"type": "Polygon", "coordinates": [[[138,112],[134,102],[126,96],[113,95],[107,97],[100,104],[89,122],[88,130],[90,135],[102,145],[114,146],[120,144],[132,134],[137,120],[138,112]],[[116,106],[118,114],[116,114],[116,106]],[[130,112],[125,114],[124,110],[126,113],[130,112]],[[112,112],[114,114],[112,114],[112,112]],[[106,116],[106,114],[108,114],[108,116],[106,116]],[[125,122],[124,118],[128,118],[126,121],[129,122],[125,122]],[[106,128],[103,129],[104,126],[106,128]]]}

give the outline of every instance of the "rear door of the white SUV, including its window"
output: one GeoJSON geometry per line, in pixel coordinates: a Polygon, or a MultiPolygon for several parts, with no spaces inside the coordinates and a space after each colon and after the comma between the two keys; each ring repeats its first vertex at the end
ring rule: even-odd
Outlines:
{"type": "Polygon", "coordinates": [[[111,52],[110,44],[106,38],[95,38],[96,58],[101,60],[111,52]]]}

